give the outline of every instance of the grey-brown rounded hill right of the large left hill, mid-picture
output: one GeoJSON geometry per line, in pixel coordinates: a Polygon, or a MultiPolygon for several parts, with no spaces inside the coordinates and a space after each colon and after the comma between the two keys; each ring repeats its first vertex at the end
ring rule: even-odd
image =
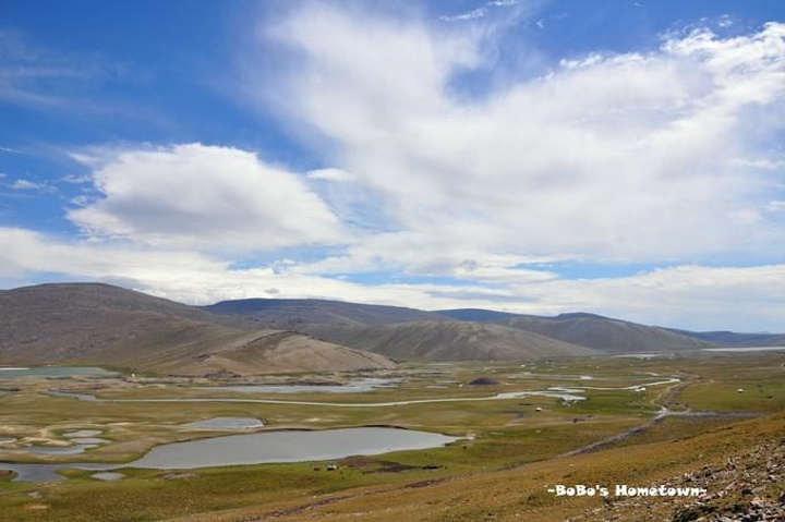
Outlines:
{"type": "Polygon", "coordinates": [[[376,326],[303,326],[315,337],[397,361],[492,361],[591,355],[594,350],[503,325],[412,321],[376,326]]]}

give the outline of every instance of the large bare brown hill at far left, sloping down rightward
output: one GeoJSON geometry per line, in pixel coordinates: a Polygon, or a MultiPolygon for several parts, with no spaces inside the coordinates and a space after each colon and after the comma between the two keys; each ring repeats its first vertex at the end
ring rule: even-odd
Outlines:
{"type": "Polygon", "coordinates": [[[240,375],[386,368],[384,356],[108,284],[0,292],[0,364],[240,375]]]}

